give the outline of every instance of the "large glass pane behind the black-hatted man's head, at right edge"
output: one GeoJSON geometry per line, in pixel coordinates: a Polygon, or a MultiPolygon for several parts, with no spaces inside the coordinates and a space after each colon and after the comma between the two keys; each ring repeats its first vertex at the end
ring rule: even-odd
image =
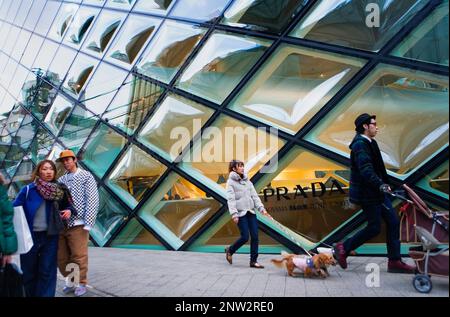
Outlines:
{"type": "Polygon", "coordinates": [[[386,167],[407,177],[448,144],[448,78],[381,65],[307,139],[348,156],[353,122],[364,112],[377,115],[386,167]]]}

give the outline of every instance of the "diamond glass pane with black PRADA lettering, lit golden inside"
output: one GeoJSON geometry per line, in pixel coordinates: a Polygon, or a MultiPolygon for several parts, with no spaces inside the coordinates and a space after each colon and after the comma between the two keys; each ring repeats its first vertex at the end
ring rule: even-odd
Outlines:
{"type": "Polygon", "coordinates": [[[348,167],[294,147],[256,188],[276,221],[318,242],[358,211],[348,201],[349,180],[348,167]]]}

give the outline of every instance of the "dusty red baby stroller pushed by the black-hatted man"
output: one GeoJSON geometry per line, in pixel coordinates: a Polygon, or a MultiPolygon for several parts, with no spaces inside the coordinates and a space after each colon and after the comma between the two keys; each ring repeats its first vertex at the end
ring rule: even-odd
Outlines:
{"type": "Polygon", "coordinates": [[[448,277],[449,212],[430,210],[411,188],[407,185],[403,188],[408,198],[392,194],[404,201],[400,208],[400,240],[420,243],[420,246],[411,247],[408,253],[417,267],[413,285],[418,292],[429,293],[433,287],[431,276],[448,277]]]}

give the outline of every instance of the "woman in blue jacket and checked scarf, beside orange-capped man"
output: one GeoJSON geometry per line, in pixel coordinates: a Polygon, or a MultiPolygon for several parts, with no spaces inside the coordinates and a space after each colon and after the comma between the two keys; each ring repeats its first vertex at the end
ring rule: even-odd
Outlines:
{"type": "Polygon", "coordinates": [[[13,203],[23,207],[34,242],[31,250],[20,256],[23,282],[27,296],[54,297],[58,236],[73,207],[67,187],[56,182],[55,163],[40,162],[32,179],[13,203]]]}

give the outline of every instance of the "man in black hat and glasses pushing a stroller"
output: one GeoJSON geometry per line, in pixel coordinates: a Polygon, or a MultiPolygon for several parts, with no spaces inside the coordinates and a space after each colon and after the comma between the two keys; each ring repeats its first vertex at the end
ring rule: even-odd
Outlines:
{"type": "Polygon", "coordinates": [[[364,229],[346,241],[336,243],[334,255],[339,265],[347,268],[349,253],[381,231],[381,218],[386,222],[388,272],[414,273],[415,268],[401,260],[400,225],[388,197],[391,188],[388,174],[375,136],[378,133],[376,116],[363,113],[355,120],[356,136],[350,144],[351,176],[350,201],[362,206],[367,218],[364,229]]]}

